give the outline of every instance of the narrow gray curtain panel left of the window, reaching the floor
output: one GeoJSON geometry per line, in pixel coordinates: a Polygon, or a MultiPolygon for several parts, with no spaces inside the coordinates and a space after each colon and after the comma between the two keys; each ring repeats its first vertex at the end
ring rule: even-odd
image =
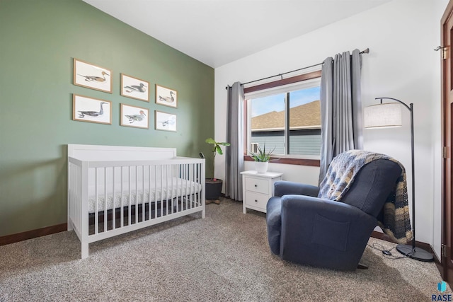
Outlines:
{"type": "Polygon", "coordinates": [[[243,171],[243,86],[236,82],[228,89],[226,112],[225,196],[242,200],[243,171]]]}

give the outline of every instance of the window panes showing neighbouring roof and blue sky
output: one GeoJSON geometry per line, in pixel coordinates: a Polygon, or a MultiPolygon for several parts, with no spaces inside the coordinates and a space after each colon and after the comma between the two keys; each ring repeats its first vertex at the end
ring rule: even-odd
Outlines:
{"type": "Polygon", "coordinates": [[[320,71],[311,74],[290,85],[246,92],[247,152],[265,146],[278,157],[319,159],[321,78],[320,71]]]}

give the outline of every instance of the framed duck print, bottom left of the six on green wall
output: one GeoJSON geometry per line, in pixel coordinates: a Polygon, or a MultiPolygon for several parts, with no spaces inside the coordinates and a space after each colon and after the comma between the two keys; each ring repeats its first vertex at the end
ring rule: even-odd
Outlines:
{"type": "Polygon", "coordinates": [[[72,120],[112,124],[112,103],[108,100],[73,94],[72,120]]]}

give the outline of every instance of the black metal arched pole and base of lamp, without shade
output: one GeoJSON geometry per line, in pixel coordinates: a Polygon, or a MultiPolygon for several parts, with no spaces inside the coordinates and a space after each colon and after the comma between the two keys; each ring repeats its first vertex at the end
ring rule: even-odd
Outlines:
{"type": "MultiPolygon", "coordinates": [[[[396,98],[375,98],[375,100],[396,100],[396,98]]],[[[401,254],[411,257],[412,259],[431,262],[434,257],[430,252],[423,250],[422,248],[415,247],[415,156],[414,156],[414,141],[413,141],[413,103],[406,105],[401,100],[396,100],[406,107],[411,112],[411,158],[412,158],[412,245],[398,244],[396,250],[401,254]]]]}

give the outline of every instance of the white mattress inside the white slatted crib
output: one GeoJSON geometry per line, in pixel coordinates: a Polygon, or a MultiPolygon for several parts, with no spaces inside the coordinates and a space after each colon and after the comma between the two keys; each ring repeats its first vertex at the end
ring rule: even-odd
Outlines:
{"type": "Polygon", "coordinates": [[[93,187],[90,188],[88,194],[88,213],[96,213],[96,200],[98,204],[97,211],[104,211],[104,209],[114,209],[120,207],[127,207],[128,205],[143,204],[148,202],[159,202],[162,200],[174,199],[176,197],[183,197],[191,194],[199,193],[202,190],[202,186],[198,182],[190,180],[184,180],[181,178],[170,178],[167,181],[164,180],[164,185],[160,183],[151,183],[151,189],[149,186],[142,188],[136,188],[135,185],[118,186],[113,192],[113,188],[110,190],[98,189],[98,195],[94,193],[93,187]],[[167,185],[168,184],[168,185],[167,185]],[[122,191],[122,192],[121,192],[122,191]]]}

